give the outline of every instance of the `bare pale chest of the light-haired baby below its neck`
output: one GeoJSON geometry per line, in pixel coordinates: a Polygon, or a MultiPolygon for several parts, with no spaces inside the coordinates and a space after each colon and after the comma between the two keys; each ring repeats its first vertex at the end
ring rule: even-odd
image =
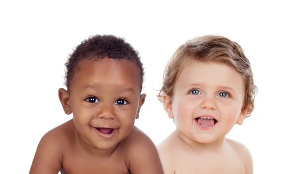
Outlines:
{"type": "Polygon", "coordinates": [[[244,163],[234,155],[184,156],[174,163],[175,174],[245,174],[244,163]]]}

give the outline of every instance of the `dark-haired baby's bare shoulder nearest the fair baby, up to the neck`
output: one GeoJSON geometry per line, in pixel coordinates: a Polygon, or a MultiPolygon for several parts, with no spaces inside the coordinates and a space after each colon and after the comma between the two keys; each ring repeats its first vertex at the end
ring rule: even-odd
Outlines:
{"type": "Polygon", "coordinates": [[[132,174],[163,174],[156,146],[143,131],[134,127],[123,144],[125,162],[132,174]]]}

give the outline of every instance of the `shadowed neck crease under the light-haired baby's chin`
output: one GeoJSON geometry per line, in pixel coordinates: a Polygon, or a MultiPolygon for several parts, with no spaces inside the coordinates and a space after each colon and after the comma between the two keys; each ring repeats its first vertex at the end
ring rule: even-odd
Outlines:
{"type": "Polygon", "coordinates": [[[207,151],[213,151],[218,152],[223,149],[224,145],[224,138],[215,140],[210,143],[200,143],[195,140],[192,140],[191,138],[188,138],[187,136],[183,135],[178,130],[175,131],[175,133],[178,135],[179,139],[183,144],[190,147],[193,150],[207,150],[207,151]]]}

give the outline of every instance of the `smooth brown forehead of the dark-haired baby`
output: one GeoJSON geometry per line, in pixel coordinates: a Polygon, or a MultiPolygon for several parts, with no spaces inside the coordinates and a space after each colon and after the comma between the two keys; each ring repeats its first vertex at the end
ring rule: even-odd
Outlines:
{"type": "Polygon", "coordinates": [[[125,87],[138,92],[141,90],[141,75],[137,65],[128,60],[83,60],[77,64],[70,86],[125,87]]]}

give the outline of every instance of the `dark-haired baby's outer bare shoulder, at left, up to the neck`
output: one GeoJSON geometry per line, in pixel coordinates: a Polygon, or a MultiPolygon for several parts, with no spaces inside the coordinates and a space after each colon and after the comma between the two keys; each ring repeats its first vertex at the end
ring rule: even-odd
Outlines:
{"type": "Polygon", "coordinates": [[[41,138],[29,174],[58,174],[70,127],[71,120],[48,131],[41,138]]]}

